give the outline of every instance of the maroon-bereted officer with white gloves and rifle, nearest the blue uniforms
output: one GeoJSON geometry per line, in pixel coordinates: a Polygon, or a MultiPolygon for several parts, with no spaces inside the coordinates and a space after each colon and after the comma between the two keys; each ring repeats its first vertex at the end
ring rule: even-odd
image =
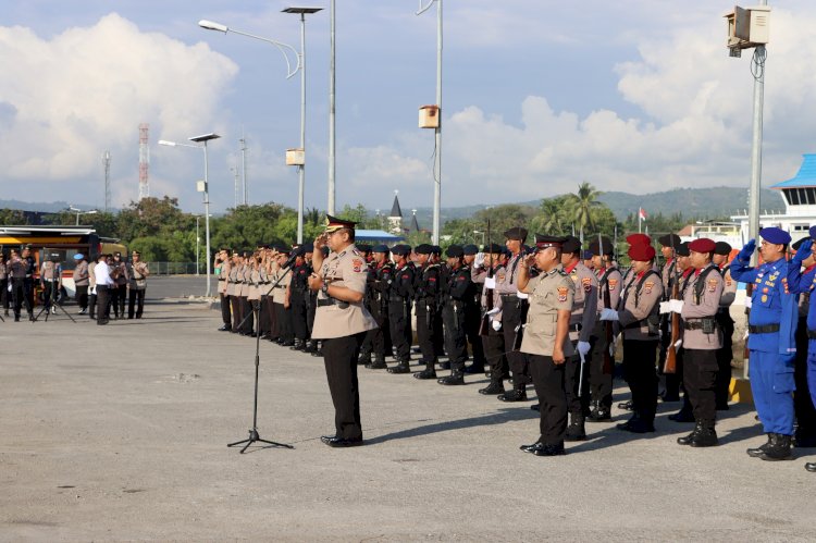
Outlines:
{"type": "Polygon", "coordinates": [[[660,312],[679,313],[683,319],[683,385],[696,422],[694,430],[677,442],[692,447],[710,447],[717,445],[714,390],[717,382],[717,349],[722,346],[722,337],[716,316],[724,281],[717,267],[712,263],[712,239],[694,239],[689,244],[689,251],[693,271],[683,288],[683,299],[662,303],[660,312]]]}

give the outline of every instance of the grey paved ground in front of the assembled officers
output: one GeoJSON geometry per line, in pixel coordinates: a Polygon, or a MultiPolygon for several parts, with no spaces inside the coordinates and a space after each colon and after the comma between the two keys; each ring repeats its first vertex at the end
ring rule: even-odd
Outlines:
{"type": "Polygon", "coordinates": [[[0,323],[1,541],[813,541],[816,451],[749,458],[741,406],[718,448],[676,445],[668,404],[654,435],[595,424],[537,458],[518,451],[529,404],[362,370],[367,446],[331,449],[322,361],[267,343],[259,431],[294,448],[240,455],[255,343],[218,321],[165,301],[106,328],[0,323]]]}

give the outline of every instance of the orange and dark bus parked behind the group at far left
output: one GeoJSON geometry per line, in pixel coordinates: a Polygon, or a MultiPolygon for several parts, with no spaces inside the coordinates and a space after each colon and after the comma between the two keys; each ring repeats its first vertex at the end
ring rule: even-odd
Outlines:
{"type": "Polygon", "coordinates": [[[72,298],[76,293],[74,255],[84,255],[88,263],[107,252],[121,252],[123,258],[127,256],[127,248],[119,239],[100,237],[92,226],[0,226],[0,250],[7,258],[12,248],[22,250],[25,247],[30,247],[32,256],[37,260],[37,288],[46,250],[60,252],[63,294],[72,298]]]}

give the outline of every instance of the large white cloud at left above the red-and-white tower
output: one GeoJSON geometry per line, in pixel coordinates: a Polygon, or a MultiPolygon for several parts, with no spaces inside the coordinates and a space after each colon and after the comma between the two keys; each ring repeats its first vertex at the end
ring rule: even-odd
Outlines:
{"type": "Polygon", "coordinates": [[[114,192],[115,203],[135,199],[139,123],[151,123],[153,140],[200,132],[237,72],[205,44],[143,33],[116,14],[51,39],[0,27],[0,59],[7,74],[0,78],[0,171],[4,192],[29,200],[12,190],[15,180],[71,182],[88,190],[78,180],[101,178],[106,149],[114,175],[132,180],[129,190],[114,192]]]}

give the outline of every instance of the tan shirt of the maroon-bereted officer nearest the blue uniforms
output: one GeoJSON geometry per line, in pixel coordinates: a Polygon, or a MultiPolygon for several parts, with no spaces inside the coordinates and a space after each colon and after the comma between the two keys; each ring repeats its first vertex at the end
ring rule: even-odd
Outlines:
{"type": "Polygon", "coordinates": [[[696,323],[700,319],[717,314],[719,300],[722,296],[725,281],[716,267],[694,270],[689,274],[683,294],[683,348],[687,349],[718,349],[722,347],[722,332],[717,326],[713,334],[706,334],[696,323]],[[697,285],[701,277],[704,283],[697,285]],[[697,293],[700,295],[697,296],[697,293]],[[691,328],[691,326],[693,328],[691,328]]]}

